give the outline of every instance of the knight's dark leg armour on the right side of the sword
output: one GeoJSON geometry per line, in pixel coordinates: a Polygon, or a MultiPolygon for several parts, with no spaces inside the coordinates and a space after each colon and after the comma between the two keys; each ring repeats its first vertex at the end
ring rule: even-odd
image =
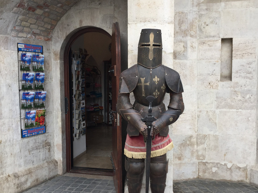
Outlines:
{"type": "Polygon", "coordinates": [[[151,193],[164,193],[168,170],[167,155],[150,159],[150,189],[151,193]]]}

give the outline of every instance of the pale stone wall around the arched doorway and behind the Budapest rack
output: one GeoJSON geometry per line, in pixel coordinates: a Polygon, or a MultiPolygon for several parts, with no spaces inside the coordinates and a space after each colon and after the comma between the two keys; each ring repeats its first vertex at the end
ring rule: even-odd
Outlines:
{"type": "MultiPolygon", "coordinates": [[[[17,2],[16,2],[17,3],[17,2]]],[[[2,9],[2,6],[1,6],[2,9]]],[[[6,11],[6,9],[5,9],[6,11]]],[[[112,32],[119,22],[121,44],[127,45],[127,4],[125,1],[80,1],[58,22],[52,41],[11,36],[0,30],[0,192],[21,192],[66,172],[63,53],[69,38],[79,29],[99,27],[112,32]],[[46,133],[21,139],[17,43],[43,45],[45,55],[46,133]]],[[[3,24],[18,15],[2,12],[3,24]],[[10,17],[11,16],[11,17],[10,17]]],[[[1,22],[2,22],[1,21],[1,22]]],[[[6,25],[8,26],[8,25],[6,25]]],[[[127,63],[127,46],[122,62],[127,63]]]]}

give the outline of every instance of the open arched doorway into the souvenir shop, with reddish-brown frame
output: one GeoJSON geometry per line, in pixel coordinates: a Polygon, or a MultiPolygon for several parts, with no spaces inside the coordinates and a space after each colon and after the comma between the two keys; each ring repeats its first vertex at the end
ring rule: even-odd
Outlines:
{"type": "MultiPolygon", "coordinates": [[[[103,164],[108,163],[109,166],[95,166],[97,162],[100,162],[101,159],[97,160],[91,160],[89,162],[85,162],[86,164],[79,164],[78,165],[78,158],[79,159],[85,154],[87,154],[87,146],[92,147],[92,144],[89,144],[92,142],[92,136],[88,136],[87,140],[87,131],[91,131],[91,134],[96,132],[96,135],[99,136],[106,136],[109,138],[110,142],[112,139],[112,133],[110,127],[105,125],[103,122],[104,120],[104,114],[101,110],[106,105],[107,101],[104,101],[104,96],[107,95],[104,91],[104,83],[105,78],[105,67],[104,62],[101,60],[110,60],[111,58],[111,52],[109,50],[109,44],[108,41],[111,43],[111,35],[108,34],[105,30],[101,28],[96,27],[88,27],[84,28],[82,30],[77,31],[74,35],[71,36],[69,39],[64,53],[64,74],[65,74],[65,95],[66,97],[66,159],[67,159],[67,172],[75,172],[75,173],[85,173],[85,174],[101,174],[101,175],[112,175],[112,165],[111,162],[107,162],[107,159],[103,160],[103,164]],[[100,46],[99,41],[101,39],[102,46],[100,46]],[[90,46],[84,46],[85,43],[90,44],[90,46]],[[87,52],[86,52],[87,50],[87,52]],[[106,50],[106,58],[103,56],[103,50],[106,50]],[[82,53],[81,53],[82,52],[82,53]],[[95,52],[95,53],[94,53],[95,52]],[[96,53],[99,52],[99,53],[96,53]],[[102,53],[101,53],[102,52],[102,53]],[[109,53],[108,53],[109,52],[109,53]],[[88,54],[90,53],[90,54],[88,54]],[[101,53],[101,54],[100,54],[101,53]],[[84,62],[81,62],[83,59],[77,59],[78,56],[76,55],[84,55],[84,62]],[[99,54],[99,55],[98,55],[99,54]],[[101,59],[102,57],[102,59],[101,59]],[[76,62],[79,62],[79,69],[76,69],[76,62]],[[100,66],[102,65],[102,66],[100,66]],[[82,71],[82,66],[84,66],[84,71],[82,71]],[[86,74],[85,74],[86,73],[86,74]],[[87,78],[89,76],[93,75],[94,77],[90,77],[90,80],[87,78]],[[82,87],[82,80],[84,80],[84,85],[82,87]],[[85,82],[87,84],[85,84],[85,82]],[[93,85],[94,83],[94,85],[93,85]],[[103,86],[102,86],[103,85],[103,86]],[[98,86],[98,88],[97,88],[98,86]],[[101,88],[102,87],[102,88],[101,88]],[[80,90],[79,94],[80,96],[76,94],[76,92],[80,90]],[[91,97],[91,92],[95,93],[101,93],[102,97],[91,97]],[[84,97],[82,98],[82,94],[84,97]],[[88,97],[85,97],[85,95],[88,97]],[[78,99],[78,100],[77,100],[78,99]],[[77,104],[77,101],[79,101],[81,104],[77,104]],[[84,102],[84,105],[83,105],[84,102]],[[84,106],[84,115],[86,120],[84,120],[85,127],[80,126],[83,123],[82,114],[83,114],[83,108],[84,106]],[[88,106],[91,106],[89,108],[92,108],[93,111],[87,111],[88,106]],[[81,108],[82,107],[82,108],[81,108]],[[95,107],[98,108],[98,110],[95,110],[95,107]],[[78,116],[78,112],[80,112],[81,115],[78,116]],[[93,121],[93,118],[98,118],[101,120],[93,121]],[[88,120],[88,122],[86,122],[88,120]],[[78,121],[78,122],[77,122],[78,121]],[[87,125],[86,123],[90,123],[91,125],[87,125]],[[78,130],[79,126],[79,130],[78,130]],[[92,128],[94,127],[94,128],[92,128]],[[94,131],[92,131],[94,130],[94,131]],[[109,131],[109,132],[108,132],[109,131]],[[108,132],[105,135],[102,135],[101,132],[108,132]],[[97,134],[98,133],[98,134],[97,134]],[[76,159],[76,160],[75,160],[76,159]],[[74,162],[76,161],[76,162],[74,162]],[[95,164],[95,165],[94,165],[95,164]]],[[[106,64],[108,65],[108,64],[106,64]]],[[[110,64],[111,65],[111,64],[110,64]]],[[[103,109],[106,111],[106,109],[103,109]]],[[[85,119],[84,118],[84,119],[85,119]]],[[[112,127],[111,127],[112,128],[112,127]]],[[[95,136],[94,136],[95,137],[95,136]]],[[[102,140],[99,138],[99,140],[102,140]]],[[[108,143],[110,146],[110,154],[111,155],[111,143],[108,143]]],[[[98,143],[100,145],[100,143],[98,143]]],[[[101,147],[99,147],[101,148],[101,147]]],[[[91,149],[91,151],[94,151],[91,149]]],[[[97,151],[97,150],[96,150],[97,151]]],[[[98,150],[98,152],[100,152],[98,150]]],[[[103,154],[103,152],[102,152],[103,154]]],[[[107,153],[106,153],[107,154],[107,153]]],[[[100,156],[100,155],[99,155],[100,156]]],[[[107,156],[107,155],[105,155],[107,156]]],[[[94,156],[93,156],[94,157],[94,156]]],[[[101,157],[101,156],[100,156],[101,157]]],[[[89,160],[89,159],[88,159],[89,160]]],[[[108,157],[108,160],[110,158],[108,157]]]]}

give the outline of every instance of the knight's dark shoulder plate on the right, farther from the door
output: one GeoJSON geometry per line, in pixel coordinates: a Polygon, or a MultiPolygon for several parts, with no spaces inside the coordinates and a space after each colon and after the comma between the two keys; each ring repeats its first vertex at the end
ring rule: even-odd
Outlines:
{"type": "MultiPolygon", "coordinates": [[[[177,71],[164,66],[165,69],[165,80],[168,88],[174,93],[184,92],[180,76],[177,71]]],[[[169,91],[168,91],[169,92],[169,91]]]]}

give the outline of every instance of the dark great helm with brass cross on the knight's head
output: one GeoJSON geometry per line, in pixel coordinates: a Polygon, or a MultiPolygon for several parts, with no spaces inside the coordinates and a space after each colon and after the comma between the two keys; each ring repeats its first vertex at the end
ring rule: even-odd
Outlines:
{"type": "Polygon", "coordinates": [[[162,39],[160,29],[142,29],[137,63],[146,68],[162,65],[162,39]]]}

